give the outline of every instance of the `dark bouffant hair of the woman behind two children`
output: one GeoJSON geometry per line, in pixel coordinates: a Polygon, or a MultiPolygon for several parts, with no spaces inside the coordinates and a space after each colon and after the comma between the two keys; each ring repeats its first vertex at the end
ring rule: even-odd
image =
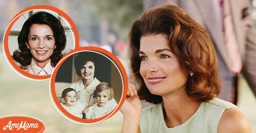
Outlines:
{"type": "Polygon", "coordinates": [[[80,69],[83,65],[85,65],[88,61],[91,61],[95,65],[95,72],[94,77],[99,76],[100,74],[100,58],[98,53],[90,52],[90,51],[83,51],[76,56],[74,61],[74,66],[76,68],[76,74],[81,76],[80,69]]]}

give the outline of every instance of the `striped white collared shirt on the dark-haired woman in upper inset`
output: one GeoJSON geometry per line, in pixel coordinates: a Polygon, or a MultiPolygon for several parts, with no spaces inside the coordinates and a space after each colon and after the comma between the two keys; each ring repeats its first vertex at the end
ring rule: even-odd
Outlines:
{"type": "Polygon", "coordinates": [[[51,59],[43,69],[35,65],[32,59],[30,65],[28,65],[28,68],[27,68],[27,72],[34,75],[50,75],[52,74],[53,70],[54,70],[54,67],[52,67],[51,65],[51,59]]]}

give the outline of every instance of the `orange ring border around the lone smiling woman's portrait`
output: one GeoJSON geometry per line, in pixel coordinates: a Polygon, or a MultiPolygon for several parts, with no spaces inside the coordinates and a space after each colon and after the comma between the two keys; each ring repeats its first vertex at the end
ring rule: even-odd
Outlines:
{"type": "Polygon", "coordinates": [[[21,74],[25,75],[26,77],[32,78],[32,79],[48,79],[51,77],[51,75],[43,75],[43,76],[38,76],[38,75],[33,75],[33,74],[29,74],[28,72],[25,72],[24,70],[20,69],[19,66],[15,63],[15,61],[13,61],[13,58],[11,57],[10,51],[9,51],[9,46],[8,46],[8,38],[9,38],[9,33],[11,31],[11,27],[13,26],[13,24],[17,21],[17,19],[19,17],[17,16],[21,16],[22,14],[24,14],[27,11],[30,10],[36,10],[36,9],[47,9],[47,10],[51,10],[54,11],[56,13],[61,14],[61,16],[63,16],[71,25],[73,32],[74,32],[74,39],[75,39],[75,49],[77,49],[79,47],[79,35],[78,35],[78,31],[76,29],[76,25],[74,24],[74,22],[71,20],[71,18],[64,13],[63,11],[61,11],[60,9],[56,8],[56,7],[52,7],[49,5],[34,5],[31,7],[28,7],[22,11],[20,11],[17,15],[14,16],[14,18],[11,20],[11,22],[9,23],[7,29],[6,29],[6,33],[4,34],[4,50],[7,56],[7,59],[9,60],[9,62],[11,63],[11,65],[21,74]]]}

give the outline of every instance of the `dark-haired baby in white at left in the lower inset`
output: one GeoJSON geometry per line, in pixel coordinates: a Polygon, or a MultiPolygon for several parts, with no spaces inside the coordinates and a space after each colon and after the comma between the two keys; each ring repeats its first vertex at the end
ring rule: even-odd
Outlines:
{"type": "Polygon", "coordinates": [[[61,105],[72,115],[82,118],[82,113],[85,112],[87,107],[79,100],[76,100],[76,91],[73,88],[66,88],[61,94],[61,105]]]}

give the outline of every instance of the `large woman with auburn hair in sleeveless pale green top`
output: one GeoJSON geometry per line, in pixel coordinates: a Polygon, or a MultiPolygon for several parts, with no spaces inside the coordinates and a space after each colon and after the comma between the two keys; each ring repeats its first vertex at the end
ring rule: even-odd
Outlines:
{"type": "Polygon", "coordinates": [[[206,29],[182,9],[147,9],[129,32],[138,92],[128,84],[122,132],[252,132],[221,91],[217,56],[206,29]],[[141,110],[141,101],[153,106],[141,110]]]}

